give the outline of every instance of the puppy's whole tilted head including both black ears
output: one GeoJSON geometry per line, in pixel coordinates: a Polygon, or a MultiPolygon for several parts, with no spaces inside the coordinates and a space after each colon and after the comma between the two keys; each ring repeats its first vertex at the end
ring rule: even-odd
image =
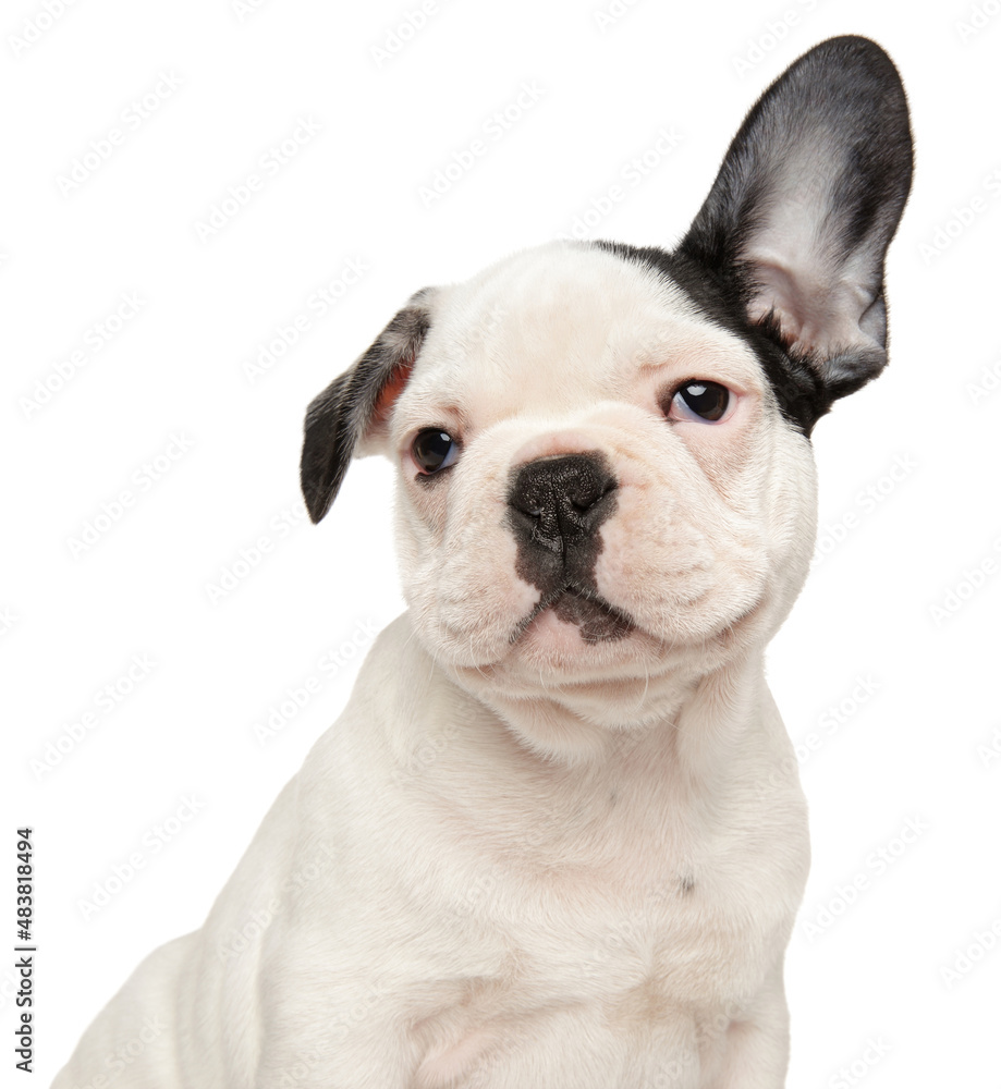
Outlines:
{"type": "Polygon", "coordinates": [[[815,534],[809,433],[887,362],[899,76],[835,38],[748,114],[672,252],[559,242],[414,295],[310,404],[314,522],[399,469],[415,629],[528,741],[660,718],[764,647],[815,534]]]}

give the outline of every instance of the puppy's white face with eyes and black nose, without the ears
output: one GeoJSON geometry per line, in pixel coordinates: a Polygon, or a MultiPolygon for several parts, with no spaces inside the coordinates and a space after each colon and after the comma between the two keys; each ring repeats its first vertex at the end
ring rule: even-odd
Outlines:
{"type": "Polygon", "coordinates": [[[718,664],[782,596],[770,575],[802,577],[808,444],[754,353],[675,285],[556,244],[430,305],[386,448],[407,601],[439,661],[508,694],[542,677],[624,696],[718,664]]]}

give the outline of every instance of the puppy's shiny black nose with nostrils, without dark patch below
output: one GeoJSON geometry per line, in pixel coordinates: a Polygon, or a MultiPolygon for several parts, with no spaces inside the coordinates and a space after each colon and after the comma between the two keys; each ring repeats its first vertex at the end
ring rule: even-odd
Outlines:
{"type": "Polygon", "coordinates": [[[587,543],[613,509],[614,489],[615,478],[598,452],[522,465],[508,494],[520,546],[560,556],[563,563],[572,551],[589,551],[587,543]]]}

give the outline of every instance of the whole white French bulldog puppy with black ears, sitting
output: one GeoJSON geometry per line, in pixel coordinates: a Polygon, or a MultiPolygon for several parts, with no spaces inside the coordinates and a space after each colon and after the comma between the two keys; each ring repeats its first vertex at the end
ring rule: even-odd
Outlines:
{"type": "Polygon", "coordinates": [[[893,64],[825,41],[676,248],[419,291],[316,397],[309,514],[388,456],[410,608],[59,1089],[784,1084],[809,847],[762,656],[813,551],[810,430],[887,363],[911,171],[893,64]]]}

